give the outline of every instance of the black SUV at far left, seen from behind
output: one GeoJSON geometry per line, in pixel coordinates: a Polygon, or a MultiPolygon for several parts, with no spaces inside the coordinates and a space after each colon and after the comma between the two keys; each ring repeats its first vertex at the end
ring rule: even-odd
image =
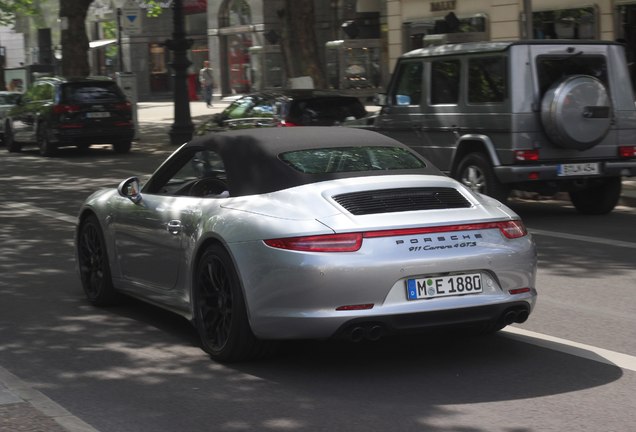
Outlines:
{"type": "Polygon", "coordinates": [[[4,143],[10,152],[35,144],[43,156],[91,144],[112,144],[116,153],[126,153],[134,128],[131,104],[115,81],[46,77],[7,113],[4,143]]]}

